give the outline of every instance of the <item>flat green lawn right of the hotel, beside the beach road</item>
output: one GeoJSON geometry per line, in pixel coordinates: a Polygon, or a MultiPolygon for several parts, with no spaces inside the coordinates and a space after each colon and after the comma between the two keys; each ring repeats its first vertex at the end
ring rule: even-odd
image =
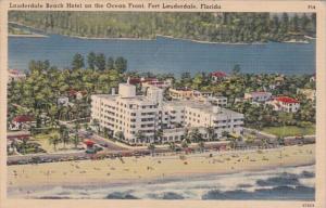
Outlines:
{"type": "Polygon", "coordinates": [[[306,127],[286,126],[286,127],[266,127],[263,128],[264,132],[277,135],[277,136],[293,136],[293,135],[312,135],[315,134],[315,125],[309,125],[306,127]]]}

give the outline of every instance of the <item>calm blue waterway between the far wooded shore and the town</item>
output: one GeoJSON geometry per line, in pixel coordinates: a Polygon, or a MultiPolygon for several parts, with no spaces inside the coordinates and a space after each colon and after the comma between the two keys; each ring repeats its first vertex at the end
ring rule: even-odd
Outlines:
{"type": "Polygon", "coordinates": [[[71,66],[75,53],[124,56],[128,69],[173,73],[230,72],[314,74],[315,41],[311,43],[223,44],[159,37],[156,40],[87,40],[60,35],[48,38],[9,38],[9,68],[26,70],[30,60],[49,60],[59,68],[71,66]]]}

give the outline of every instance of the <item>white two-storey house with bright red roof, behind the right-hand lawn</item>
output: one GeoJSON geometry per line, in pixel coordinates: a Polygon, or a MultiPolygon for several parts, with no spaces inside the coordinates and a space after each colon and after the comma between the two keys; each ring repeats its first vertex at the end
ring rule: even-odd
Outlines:
{"type": "Polygon", "coordinates": [[[300,109],[300,102],[289,96],[277,96],[268,104],[280,112],[296,113],[300,109]]]}

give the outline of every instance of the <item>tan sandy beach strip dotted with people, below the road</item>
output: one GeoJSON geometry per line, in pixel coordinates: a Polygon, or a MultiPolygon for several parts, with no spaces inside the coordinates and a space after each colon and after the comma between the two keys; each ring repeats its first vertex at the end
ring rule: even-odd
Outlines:
{"type": "Polygon", "coordinates": [[[210,152],[181,157],[145,156],[18,165],[8,167],[8,187],[127,183],[196,174],[265,170],[314,162],[315,145],[310,144],[265,151],[210,152]]]}

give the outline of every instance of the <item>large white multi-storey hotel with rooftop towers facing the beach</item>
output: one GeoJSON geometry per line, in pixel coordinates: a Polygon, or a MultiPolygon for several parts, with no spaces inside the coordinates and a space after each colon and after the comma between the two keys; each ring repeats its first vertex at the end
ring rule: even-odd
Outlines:
{"type": "Polygon", "coordinates": [[[128,143],[154,142],[155,132],[163,130],[162,142],[180,141],[187,129],[198,128],[208,139],[206,128],[214,128],[214,138],[224,131],[242,133],[243,115],[196,101],[163,101],[163,90],[152,87],[147,95],[136,95],[136,87],[118,86],[118,94],[91,96],[91,119],[114,135],[122,131],[128,143]],[[138,132],[143,138],[137,138],[138,132]]]}

